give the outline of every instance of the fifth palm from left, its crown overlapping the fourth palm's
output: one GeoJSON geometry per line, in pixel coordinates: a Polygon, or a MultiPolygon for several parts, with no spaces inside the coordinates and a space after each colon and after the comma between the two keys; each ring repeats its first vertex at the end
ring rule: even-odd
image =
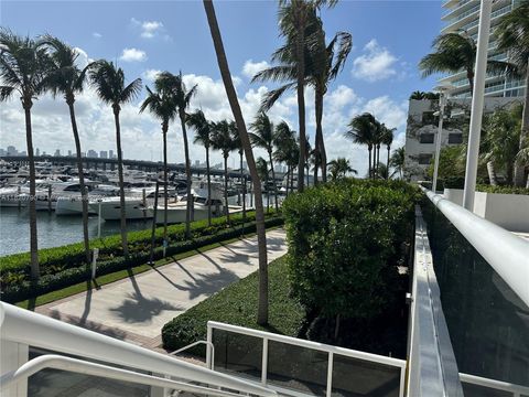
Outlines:
{"type": "Polygon", "coordinates": [[[158,78],[164,81],[168,86],[172,87],[174,98],[176,100],[176,107],[179,109],[180,125],[182,127],[182,137],[184,139],[184,157],[185,157],[185,175],[186,175],[186,196],[187,196],[187,211],[185,212],[185,237],[191,238],[191,207],[193,205],[193,197],[191,196],[191,159],[190,159],[190,144],[187,140],[187,129],[185,120],[187,118],[186,109],[190,107],[191,99],[196,94],[196,85],[191,89],[187,89],[182,76],[182,72],[177,75],[173,75],[169,72],[162,72],[158,75],[158,78]]]}

